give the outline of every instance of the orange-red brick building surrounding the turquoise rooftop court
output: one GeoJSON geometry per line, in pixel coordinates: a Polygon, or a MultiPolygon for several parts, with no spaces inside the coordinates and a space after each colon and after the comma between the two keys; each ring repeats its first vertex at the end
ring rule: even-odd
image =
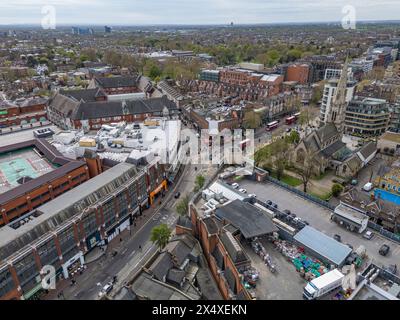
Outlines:
{"type": "MultiPolygon", "coordinates": [[[[84,161],[65,158],[43,139],[0,147],[0,157],[1,160],[8,160],[12,154],[17,153],[19,155],[26,150],[46,159],[42,161],[47,161],[49,166],[53,168],[48,169],[45,174],[38,177],[22,176],[10,185],[10,188],[0,194],[0,226],[8,224],[90,178],[88,167],[84,161]]],[[[29,162],[30,160],[25,159],[24,161],[29,162]]],[[[13,161],[18,161],[18,159],[13,161]]],[[[38,172],[43,170],[43,164],[38,164],[35,160],[30,161],[30,165],[32,167],[37,166],[38,172]]],[[[19,166],[17,165],[17,167],[19,166]]],[[[38,175],[38,172],[34,174],[38,175]]],[[[13,174],[9,173],[10,177],[13,174]]],[[[15,172],[15,174],[19,173],[15,172]]],[[[1,179],[3,184],[10,183],[7,179],[7,173],[3,170],[1,171],[1,179]]]]}

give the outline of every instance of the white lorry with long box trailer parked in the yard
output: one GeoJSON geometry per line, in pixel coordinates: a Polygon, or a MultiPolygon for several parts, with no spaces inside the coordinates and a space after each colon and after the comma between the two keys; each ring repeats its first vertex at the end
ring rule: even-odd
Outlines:
{"type": "Polygon", "coordinates": [[[344,274],[338,269],[334,269],[325,273],[318,278],[310,281],[303,291],[303,298],[306,300],[313,300],[320,298],[342,285],[344,274]]]}

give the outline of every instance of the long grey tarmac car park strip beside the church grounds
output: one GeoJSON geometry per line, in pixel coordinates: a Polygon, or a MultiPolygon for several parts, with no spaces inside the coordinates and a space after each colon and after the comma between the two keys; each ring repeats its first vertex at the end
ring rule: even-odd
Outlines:
{"type": "Polygon", "coordinates": [[[382,237],[372,230],[375,236],[371,240],[362,238],[361,234],[351,232],[337,223],[330,220],[331,211],[319,206],[311,201],[281,188],[273,183],[257,183],[250,180],[243,180],[241,187],[247,189],[248,193],[254,193],[258,199],[265,201],[271,200],[278,204],[281,210],[289,209],[298,217],[310,223],[310,226],[325,233],[328,236],[339,234],[343,243],[348,243],[354,249],[363,245],[367,250],[367,255],[372,262],[377,265],[399,264],[400,244],[382,237]],[[388,244],[391,248],[386,257],[379,255],[379,248],[383,244],[388,244]]]}

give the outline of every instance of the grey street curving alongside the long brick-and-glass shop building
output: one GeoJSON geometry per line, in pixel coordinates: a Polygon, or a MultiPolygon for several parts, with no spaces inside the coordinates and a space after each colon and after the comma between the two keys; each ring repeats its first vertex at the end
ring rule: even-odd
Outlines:
{"type": "Polygon", "coordinates": [[[151,230],[160,223],[166,223],[171,229],[174,229],[178,218],[174,210],[176,203],[185,194],[193,191],[196,175],[200,172],[204,175],[211,175],[213,169],[200,165],[195,170],[193,165],[186,166],[177,183],[170,188],[165,198],[157,199],[155,204],[136,220],[136,226],[131,226],[130,230],[125,230],[114,238],[108,244],[106,253],[102,257],[96,262],[88,264],[87,269],[81,275],[75,276],[75,285],[71,285],[71,279],[62,280],[57,283],[56,290],[42,296],[42,299],[96,300],[101,288],[115,275],[117,283],[114,284],[114,290],[110,295],[117,292],[157,251],[157,247],[150,241],[151,230]],[[176,192],[181,193],[179,199],[175,199],[173,196],[176,192]],[[161,205],[159,205],[159,200],[162,201],[161,205]],[[118,252],[115,257],[112,256],[114,250],[118,252]],[[63,298],[58,298],[60,292],[63,293],[63,298]]]}

